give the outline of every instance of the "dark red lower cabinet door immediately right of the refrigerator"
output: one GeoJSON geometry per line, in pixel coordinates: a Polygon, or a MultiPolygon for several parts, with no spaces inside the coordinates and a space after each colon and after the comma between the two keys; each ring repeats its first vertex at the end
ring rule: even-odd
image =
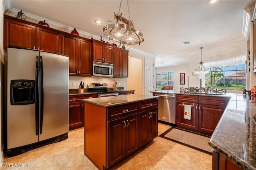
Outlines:
{"type": "Polygon", "coordinates": [[[69,103],[69,130],[84,127],[84,103],[76,102],[69,103]]]}

